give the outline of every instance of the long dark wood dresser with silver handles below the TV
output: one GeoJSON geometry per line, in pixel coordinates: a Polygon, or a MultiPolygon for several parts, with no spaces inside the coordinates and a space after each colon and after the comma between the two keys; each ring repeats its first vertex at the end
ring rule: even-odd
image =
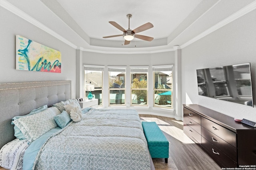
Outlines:
{"type": "Polygon", "coordinates": [[[256,168],[256,128],[197,104],[183,105],[183,113],[184,133],[221,168],[256,168]]]}

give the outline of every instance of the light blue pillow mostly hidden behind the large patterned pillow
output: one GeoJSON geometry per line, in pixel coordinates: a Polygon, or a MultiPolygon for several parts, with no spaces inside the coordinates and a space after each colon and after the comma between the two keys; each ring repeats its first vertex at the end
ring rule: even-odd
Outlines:
{"type": "MultiPolygon", "coordinates": [[[[12,121],[19,119],[20,117],[26,117],[26,116],[33,115],[36,113],[40,113],[41,111],[44,111],[47,108],[48,108],[47,105],[38,107],[37,109],[30,111],[30,113],[28,113],[27,115],[13,117],[12,121]]],[[[12,123],[12,125],[13,125],[13,123],[12,123]]],[[[26,137],[23,135],[23,133],[20,131],[20,129],[16,125],[14,125],[14,136],[20,140],[26,139],[26,137]]]]}

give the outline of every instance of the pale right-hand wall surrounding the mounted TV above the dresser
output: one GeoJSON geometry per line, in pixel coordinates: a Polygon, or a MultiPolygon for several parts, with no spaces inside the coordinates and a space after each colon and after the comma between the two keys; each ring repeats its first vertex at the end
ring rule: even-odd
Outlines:
{"type": "Polygon", "coordinates": [[[256,10],[182,49],[182,103],[256,121],[256,10]],[[196,69],[251,63],[254,108],[198,95],[196,69]]]}

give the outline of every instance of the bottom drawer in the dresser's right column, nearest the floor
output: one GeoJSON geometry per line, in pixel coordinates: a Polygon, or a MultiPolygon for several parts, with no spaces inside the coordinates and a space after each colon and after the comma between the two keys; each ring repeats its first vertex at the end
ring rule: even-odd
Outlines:
{"type": "Polygon", "coordinates": [[[208,154],[220,165],[221,168],[236,167],[236,162],[224,154],[221,150],[217,149],[212,143],[202,137],[202,147],[208,154]],[[222,166],[221,166],[222,165],[222,166]]]}

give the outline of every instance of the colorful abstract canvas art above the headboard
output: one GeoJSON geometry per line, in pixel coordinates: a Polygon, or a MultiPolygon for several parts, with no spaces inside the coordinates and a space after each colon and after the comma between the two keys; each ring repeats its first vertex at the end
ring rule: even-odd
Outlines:
{"type": "Polygon", "coordinates": [[[61,72],[61,53],[16,35],[16,70],[61,72]]]}

